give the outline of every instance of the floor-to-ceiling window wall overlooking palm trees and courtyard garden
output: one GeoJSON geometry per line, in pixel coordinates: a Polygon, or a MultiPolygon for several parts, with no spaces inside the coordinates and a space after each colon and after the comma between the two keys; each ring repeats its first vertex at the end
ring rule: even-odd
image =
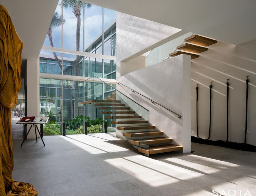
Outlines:
{"type": "MultiPolygon", "coordinates": [[[[86,89],[81,81],[94,75],[116,79],[116,11],[59,0],[39,66],[40,115],[50,117],[44,133],[61,134],[63,126],[67,134],[81,133],[84,108],[79,102],[86,89]],[[47,126],[53,127],[52,132],[47,126]]],[[[95,119],[99,112],[88,109],[85,115],[95,119]]]]}

